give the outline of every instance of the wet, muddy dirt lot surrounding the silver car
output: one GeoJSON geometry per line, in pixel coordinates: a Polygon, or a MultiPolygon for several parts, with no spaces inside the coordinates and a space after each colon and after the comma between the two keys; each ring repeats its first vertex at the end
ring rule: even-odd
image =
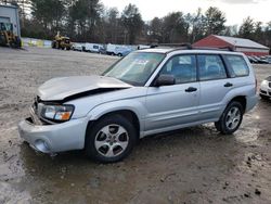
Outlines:
{"type": "MultiPolygon", "coordinates": [[[[121,163],[81,151],[33,151],[16,125],[36,88],[57,76],[99,74],[117,58],[0,48],[0,203],[271,203],[271,102],[259,101],[233,136],[214,125],[141,140],[121,163]]],[[[255,66],[258,81],[271,66],[255,66]]]]}

